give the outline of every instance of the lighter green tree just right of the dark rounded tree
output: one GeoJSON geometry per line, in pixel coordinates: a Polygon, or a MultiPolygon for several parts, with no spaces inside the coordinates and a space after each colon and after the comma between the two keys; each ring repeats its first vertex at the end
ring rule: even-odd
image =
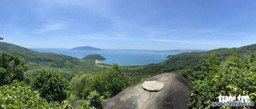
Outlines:
{"type": "Polygon", "coordinates": [[[75,76],[70,81],[70,91],[76,98],[82,100],[86,98],[92,88],[93,76],[84,74],[82,76],[75,76]]]}

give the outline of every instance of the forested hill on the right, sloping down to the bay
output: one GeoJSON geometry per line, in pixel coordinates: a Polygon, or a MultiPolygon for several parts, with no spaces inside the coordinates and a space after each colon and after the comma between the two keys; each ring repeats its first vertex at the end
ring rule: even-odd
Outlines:
{"type": "Polygon", "coordinates": [[[223,61],[231,55],[235,55],[243,60],[248,58],[251,54],[255,53],[256,44],[243,46],[239,48],[219,48],[207,52],[181,53],[177,55],[169,55],[167,56],[167,58],[169,59],[161,63],[143,65],[143,69],[137,69],[130,72],[136,75],[164,73],[173,71],[176,72],[177,70],[190,69],[192,67],[195,67],[195,65],[200,63],[200,60],[208,59],[210,57],[210,54],[220,57],[220,61],[223,61]]]}

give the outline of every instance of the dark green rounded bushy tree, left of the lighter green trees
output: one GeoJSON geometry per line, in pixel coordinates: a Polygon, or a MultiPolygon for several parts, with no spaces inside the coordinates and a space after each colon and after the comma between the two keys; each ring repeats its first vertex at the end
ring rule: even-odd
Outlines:
{"type": "Polygon", "coordinates": [[[31,86],[38,90],[47,101],[61,102],[66,99],[68,81],[62,75],[52,71],[41,71],[35,76],[31,86]]]}

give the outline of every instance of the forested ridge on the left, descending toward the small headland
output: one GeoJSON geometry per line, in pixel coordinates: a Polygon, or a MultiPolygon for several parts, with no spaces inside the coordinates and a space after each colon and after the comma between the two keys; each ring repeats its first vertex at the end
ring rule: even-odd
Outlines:
{"type": "Polygon", "coordinates": [[[72,56],[47,52],[40,53],[36,52],[35,50],[6,42],[0,42],[0,53],[2,52],[12,53],[16,56],[20,56],[25,59],[26,62],[34,62],[39,65],[47,65],[51,67],[70,68],[81,64],[78,58],[72,56]]]}

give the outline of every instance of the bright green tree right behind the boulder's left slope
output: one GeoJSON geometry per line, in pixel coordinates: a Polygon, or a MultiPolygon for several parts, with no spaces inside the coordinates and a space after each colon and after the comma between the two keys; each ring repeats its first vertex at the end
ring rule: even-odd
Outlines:
{"type": "Polygon", "coordinates": [[[129,76],[118,64],[95,76],[94,87],[107,98],[111,98],[129,86],[129,76]]]}

